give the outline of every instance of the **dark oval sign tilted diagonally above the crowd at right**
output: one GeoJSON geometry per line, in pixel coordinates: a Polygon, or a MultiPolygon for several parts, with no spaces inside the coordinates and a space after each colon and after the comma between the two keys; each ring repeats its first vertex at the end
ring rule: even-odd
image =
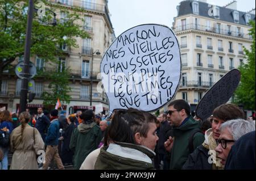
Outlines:
{"type": "Polygon", "coordinates": [[[196,107],[196,116],[205,120],[214,108],[225,104],[236,91],[241,78],[241,73],[237,69],[232,69],[226,73],[212,88],[210,88],[196,107]]]}

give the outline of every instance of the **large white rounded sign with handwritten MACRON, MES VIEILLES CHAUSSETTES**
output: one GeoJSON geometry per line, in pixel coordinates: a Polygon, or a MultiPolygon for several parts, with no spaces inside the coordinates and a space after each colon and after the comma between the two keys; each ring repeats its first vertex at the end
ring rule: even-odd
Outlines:
{"type": "Polygon", "coordinates": [[[154,111],[170,102],[180,83],[181,60],[174,32],[142,24],[117,37],[101,61],[109,111],[154,111]]]}

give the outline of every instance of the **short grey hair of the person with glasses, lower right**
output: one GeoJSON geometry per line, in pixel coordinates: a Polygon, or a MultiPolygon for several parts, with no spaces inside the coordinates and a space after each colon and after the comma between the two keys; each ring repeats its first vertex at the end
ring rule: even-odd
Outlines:
{"type": "Polygon", "coordinates": [[[220,131],[223,131],[225,128],[232,134],[233,140],[237,141],[243,134],[255,131],[255,122],[233,119],[221,124],[220,131]]]}

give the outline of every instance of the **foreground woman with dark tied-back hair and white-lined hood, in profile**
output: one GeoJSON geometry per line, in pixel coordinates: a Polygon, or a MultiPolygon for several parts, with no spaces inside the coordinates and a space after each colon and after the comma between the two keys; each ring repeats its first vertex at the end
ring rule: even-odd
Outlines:
{"type": "Polygon", "coordinates": [[[134,108],[115,112],[108,132],[113,143],[101,148],[94,169],[154,169],[155,122],[155,116],[134,108]]]}

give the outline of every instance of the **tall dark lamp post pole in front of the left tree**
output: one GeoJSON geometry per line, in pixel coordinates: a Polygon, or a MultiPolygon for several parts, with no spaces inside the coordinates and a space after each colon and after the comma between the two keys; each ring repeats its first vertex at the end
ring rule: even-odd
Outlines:
{"type": "Polygon", "coordinates": [[[27,14],[27,30],[26,30],[26,40],[25,40],[25,50],[24,50],[24,60],[23,60],[23,77],[22,85],[20,90],[20,112],[26,110],[27,106],[27,92],[28,92],[28,75],[30,62],[30,46],[31,46],[31,32],[32,32],[32,20],[33,20],[34,2],[29,1],[28,14],[27,14]]]}

